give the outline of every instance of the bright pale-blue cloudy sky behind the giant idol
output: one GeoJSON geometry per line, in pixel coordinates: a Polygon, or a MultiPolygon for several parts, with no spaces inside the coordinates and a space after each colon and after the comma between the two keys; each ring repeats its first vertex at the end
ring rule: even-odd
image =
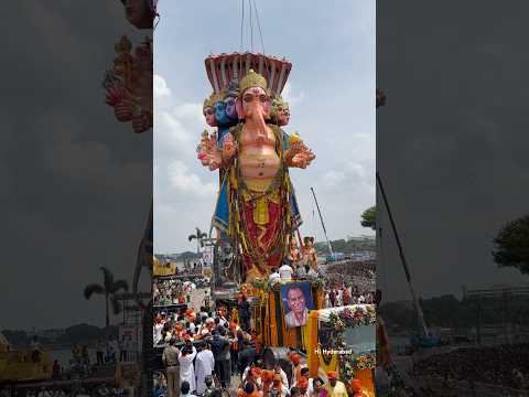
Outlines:
{"type": "MultiPolygon", "coordinates": [[[[246,2],[246,4],[248,4],[246,2]]],[[[375,204],[375,2],[257,1],[264,50],[285,56],[292,72],[283,97],[287,131],[298,130],[317,158],[292,180],[303,235],[324,239],[314,186],[330,238],[369,234],[360,213],[375,204]]],[[[209,228],[216,174],[196,160],[207,127],[202,103],[212,87],[209,53],[240,50],[240,1],[160,1],[154,43],[154,244],[156,253],[193,250],[187,236],[209,228]]],[[[244,50],[250,50],[248,6],[244,50]]],[[[261,51],[253,17],[253,50],[261,51]]]]}

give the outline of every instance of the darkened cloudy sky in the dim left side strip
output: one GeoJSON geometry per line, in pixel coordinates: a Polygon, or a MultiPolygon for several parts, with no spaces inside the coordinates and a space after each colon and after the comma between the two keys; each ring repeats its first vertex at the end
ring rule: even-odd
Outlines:
{"type": "Polygon", "coordinates": [[[121,35],[143,34],[119,1],[6,7],[0,330],[104,325],[105,300],[87,301],[83,289],[102,281],[100,266],[131,282],[151,202],[152,135],[116,121],[101,81],[121,35]]]}

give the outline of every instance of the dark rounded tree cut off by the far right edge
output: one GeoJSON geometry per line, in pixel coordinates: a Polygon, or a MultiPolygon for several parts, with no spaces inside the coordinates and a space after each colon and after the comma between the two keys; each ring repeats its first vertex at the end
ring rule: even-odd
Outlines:
{"type": "Polygon", "coordinates": [[[494,239],[494,261],[529,275],[529,215],[509,222],[494,239]]]}

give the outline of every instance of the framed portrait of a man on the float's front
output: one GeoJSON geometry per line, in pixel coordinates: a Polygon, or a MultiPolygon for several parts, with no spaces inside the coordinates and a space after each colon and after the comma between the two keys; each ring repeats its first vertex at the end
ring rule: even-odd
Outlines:
{"type": "Polygon", "coordinates": [[[310,282],[292,282],[281,286],[281,298],[287,328],[305,325],[309,310],[314,308],[310,282]]]}

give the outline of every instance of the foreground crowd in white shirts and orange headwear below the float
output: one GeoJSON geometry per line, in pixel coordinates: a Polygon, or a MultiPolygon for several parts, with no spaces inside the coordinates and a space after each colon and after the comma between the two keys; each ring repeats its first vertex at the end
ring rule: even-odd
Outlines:
{"type": "Polygon", "coordinates": [[[218,326],[213,330],[212,339],[196,344],[187,340],[181,347],[174,339],[170,340],[162,356],[166,371],[154,375],[153,395],[220,397],[236,390],[238,397],[365,396],[360,380],[353,379],[346,385],[338,380],[336,372],[328,372],[326,382],[321,377],[312,378],[300,354],[293,352],[289,354],[290,378],[278,362],[272,368],[264,368],[256,346],[247,342],[242,342],[237,365],[234,361],[230,365],[225,355],[230,341],[220,332],[222,326],[218,326]]]}

